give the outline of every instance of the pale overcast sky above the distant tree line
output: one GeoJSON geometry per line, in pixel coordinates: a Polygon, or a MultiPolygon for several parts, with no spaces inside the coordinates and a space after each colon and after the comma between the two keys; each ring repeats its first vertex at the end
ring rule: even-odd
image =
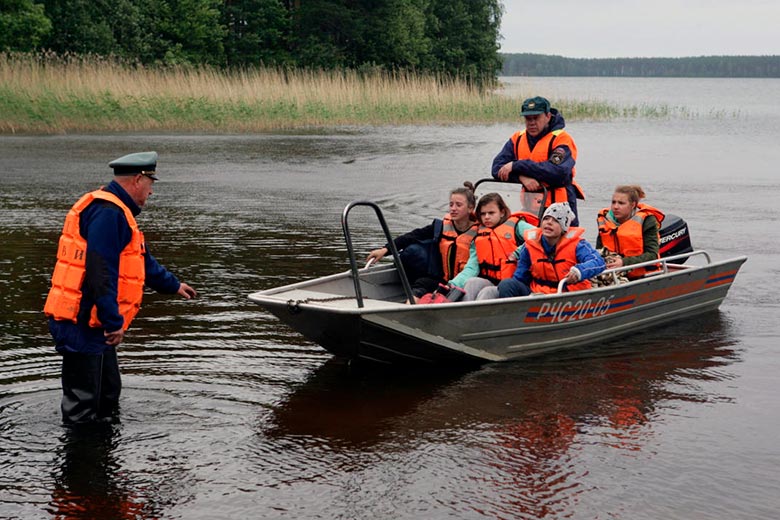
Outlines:
{"type": "Polygon", "coordinates": [[[570,58],[780,55],[780,0],[503,4],[501,52],[570,58]]]}

